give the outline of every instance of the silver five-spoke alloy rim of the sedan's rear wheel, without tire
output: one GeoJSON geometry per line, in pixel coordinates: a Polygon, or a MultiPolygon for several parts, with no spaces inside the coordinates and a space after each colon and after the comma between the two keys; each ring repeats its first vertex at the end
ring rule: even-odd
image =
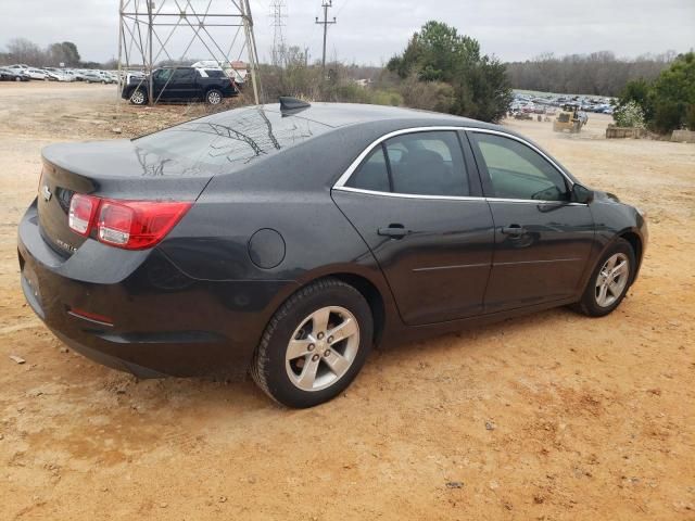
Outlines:
{"type": "Polygon", "coordinates": [[[359,348],[359,325],[344,307],[321,307],[294,330],[286,350],[290,381],[302,391],[320,391],[340,380],[359,348]]]}

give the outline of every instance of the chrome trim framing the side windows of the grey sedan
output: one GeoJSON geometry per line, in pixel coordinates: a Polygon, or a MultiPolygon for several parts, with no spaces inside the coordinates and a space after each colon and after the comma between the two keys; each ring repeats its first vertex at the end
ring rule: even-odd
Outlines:
{"type": "MultiPolygon", "coordinates": [[[[343,192],[356,192],[356,193],[366,193],[366,194],[375,194],[375,195],[386,195],[392,198],[403,198],[403,199],[431,199],[431,200],[444,200],[444,201],[488,201],[488,202],[505,202],[505,203],[534,203],[534,204],[553,204],[553,203],[561,203],[563,201],[539,201],[534,199],[504,199],[504,198],[477,198],[477,196],[464,196],[464,195],[420,195],[417,193],[393,193],[393,192],[380,192],[378,190],[365,190],[362,188],[352,188],[345,187],[345,183],[350,179],[350,177],[355,173],[357,167],[362,164],[362,162],[371,153],[371,151],[380,145],[383,141],[394,138],[396,136],[403,136],[404,134],[415,134],[415,132],[434,132],[434,131],[470,131],[470,132],[481,132],[481,134],[493,134],[496,136],[502,136],[503,138],[514,139],[515,141],[519,141],[520,143],[529,147],[535,153],[540,154],[545,161],[547,161],[553,167],[565,178],[565,180],[569,183],[570,190],[574,186],[574,181],[572,181],[567,173],[563,170],[551,157],[548,157],[542,150],[538,147],[529,143],[527,140],[519,138],[518,136],[514,136],[511,134],[507,134],[501,130],[493,130],[490,128],[478,128],[478,127],[455,127],[455,126],[435,126],[435,127],[410,127],[410,128],[402,128],[400,130],[394,130],[392,132],[386,134],[380,138],[374,140],[362,153],[353,161],[348,169],[343,173],[342,176],[336,181],[333,185],[333,190],[340,190],[343,192]]],[[[566,203],[568,206],[586,206],[585,203],[566,203]]]]}

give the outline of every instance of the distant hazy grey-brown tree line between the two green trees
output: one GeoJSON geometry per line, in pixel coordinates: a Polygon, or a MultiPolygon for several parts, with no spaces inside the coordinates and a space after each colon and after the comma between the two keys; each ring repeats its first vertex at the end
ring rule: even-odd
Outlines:
{"type": "Polygon", "coordinates": [[[628,81],[656,79],[675,58],[673,51],[634,60],[616,58],[609,51],[566,56],[547,53],[525,62],[506,63],[506,67],[515,89],[616,97],[628,81]]]}

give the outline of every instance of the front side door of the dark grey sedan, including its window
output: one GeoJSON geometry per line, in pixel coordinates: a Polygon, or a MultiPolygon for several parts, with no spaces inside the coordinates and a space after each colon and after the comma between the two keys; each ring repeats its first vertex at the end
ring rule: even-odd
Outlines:
{"type": "Polygon", "coordinates": [[[572,297],[594,240],[589,206],[571,201],[572,181],[530,143],[467,134],[495,223],[485,313],[572,297]]]}

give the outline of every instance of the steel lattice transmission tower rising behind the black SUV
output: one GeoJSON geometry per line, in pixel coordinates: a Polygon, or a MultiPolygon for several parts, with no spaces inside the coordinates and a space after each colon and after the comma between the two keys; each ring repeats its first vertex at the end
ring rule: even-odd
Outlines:
{"type": "Polygon", "coordinates": [[[157,63],[181,65],[192,58],[216,62],[231,78],[239,77],[245,55],[255,103],[262,97],[258,53],[249,0],[121,0],[118,31],[119,89],[129,73],[144,73],[140,80],[150,104],[157,63]]]}

